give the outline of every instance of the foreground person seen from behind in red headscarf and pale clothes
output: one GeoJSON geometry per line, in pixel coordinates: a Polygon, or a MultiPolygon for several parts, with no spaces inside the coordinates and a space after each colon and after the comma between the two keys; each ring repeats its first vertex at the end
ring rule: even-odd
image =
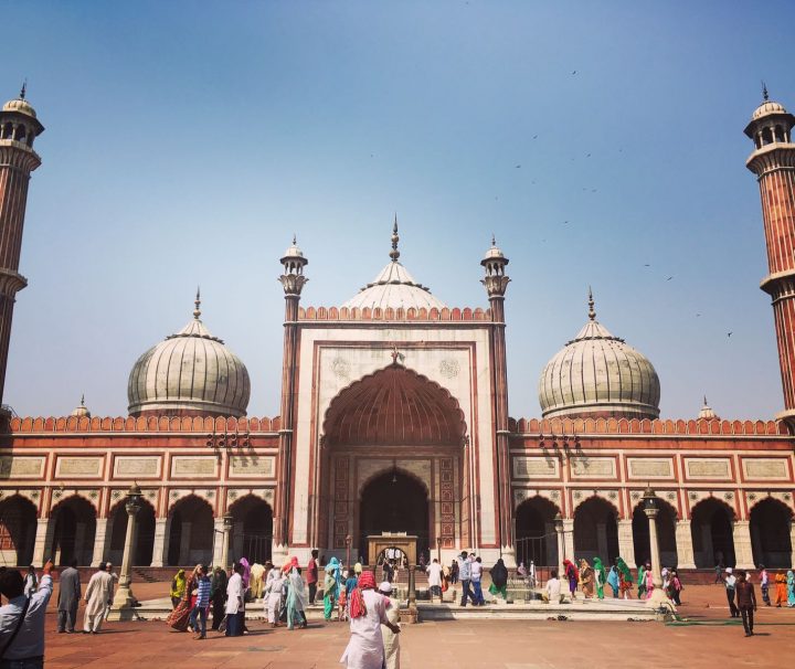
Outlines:
{"type": "Polygon", "coordinates": [[[394,634],[400,625],[386,616],[390,601],[375,592],[375,576],[371,571],[362,572],[350,598],[351,638],[340,659],[348,669],[382,669],[384,666],[384,646],[381,625],[394,634]]]}

